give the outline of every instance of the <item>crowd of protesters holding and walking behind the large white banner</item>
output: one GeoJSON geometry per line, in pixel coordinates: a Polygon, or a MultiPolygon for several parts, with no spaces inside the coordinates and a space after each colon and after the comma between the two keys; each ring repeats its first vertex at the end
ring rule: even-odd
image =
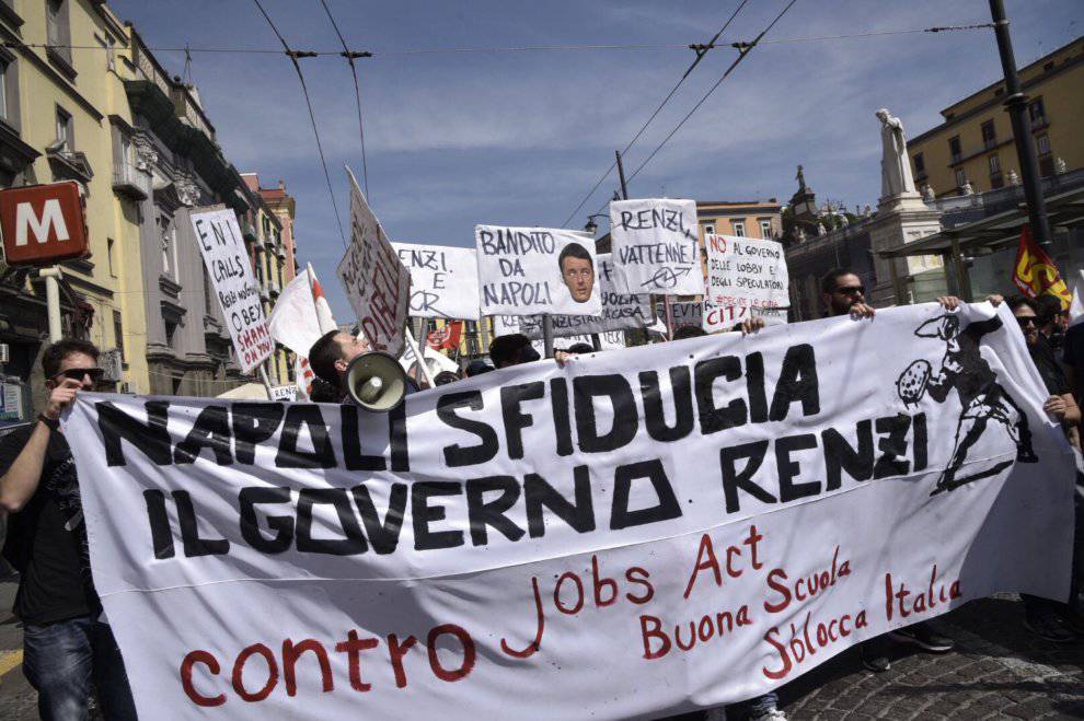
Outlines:
{"type": "MultiPolygon", "coordinates": [[[[829,272],[821,283],[821,298],[830,316],[850,316],[855,322],[873,322],[876,311],[866,302],[861,277],[849,269],[829,272]]],[[[995,305],[1003,299],[991,295],[995,305]]],[[[959,300],[938,299],[948,311],[959,300]]],[[[1052,296],[1038,300],[1012,298],[1008,309],[1019,324],[1028,352],[1049,397],[1043,409],[1061,423],[1069,441],[1081,443],[1081,410],[1077,399],[1084,393],[1084,323],[1070,327],[1069,315],[1052,296]]],[[[735,326],[743,336],[756,334],[763,321],[752,318],[735,326]]],[[[706,335],[700,327],[677,328],[673,340],[706,335]]],[[[344,403],[346,373],[350,361],[369,350],[354,336],[333,332],[321,337],[309,354],[318,376],[311,399],[344,403]]],[[[579,344],[557,351],[564,364],[578,353],[595,352],[579,344]]],[[[79,501],[74,461],[59,418],[81,391],[91,391],[101,380],[99,351],[82,340],[60,340],[42,356],[49,393],[36,422],[0,439],[0,514],[8,516],[3,556],[18,571],[19,590],[14,614],[23,624],[23,672],[38,693],[43,719],[84,719],[92,695],[108,719],[134,719],[135,708],[124,663],[102,605],[94,592],[85,527],[79,501]],[[96,693],[95,693],[96,691],[96,693]]],[[[442,386],[461,379],[542,360],[531,341],[514,334],[495,338],[489,361],[474,360],[460,373],[443,371],[433,379],[442,386]]],[[[412,373],[408,392],[428,386],[423,374],[412,373]]],[[[1077,474],[1076,481],[1082,480],[1077,474]]],[[[1068,603],[1024,595],[1024,624],[1049,642],[1068,643],[1084,637],[1084,591],[1081,588],[1080,485],[1076,486],[1076,545],[1072,595],[1068,603]]],[[[953,650],[953,639],[929,621],[897,629],[860,646],[862,664],[872,672],[890,670],[891,644],[904,643],[932,653],[953,650]]],[[[785,719],[774,693],[735,703],[730,718],[785,719]]]]}

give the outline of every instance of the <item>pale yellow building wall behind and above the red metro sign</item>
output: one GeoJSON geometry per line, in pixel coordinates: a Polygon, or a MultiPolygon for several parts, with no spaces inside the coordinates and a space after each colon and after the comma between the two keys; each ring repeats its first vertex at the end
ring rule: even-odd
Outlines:
{"type": "MultiPolygon", "coordinates": [[[[19,33],[28,45],[58,31],[46,20],[46,3],[19,2],[19,33]]],[[[139,293],[139,225],[113,188],[113,121],[130,121],[118,56],[127,45],[124,26],[104,4],[65,0],[59,50],[19,47],[18,97],[22,140],[42,155],[24,173],[27,184],[74,179],[83,189],[91,256],[62,264],[64,280],[93,311],[87,337],[102,350],[124,346],[123,381],[145,389],[147,365],[138,344],[145,325],[139,293]],[[109,51],[108,47],[116,48],[109,51]],[[58,113],[70,117],[61,148],[58,113]],[[50,150],[51,149],[51,150],[50,150]],[[135,268],[135,271],[132,271],[135,268]],[[118,335],[118,330],[120,332],[118,335]]],[[[83,314],[85,318],[85,314],[83,314]]]]}

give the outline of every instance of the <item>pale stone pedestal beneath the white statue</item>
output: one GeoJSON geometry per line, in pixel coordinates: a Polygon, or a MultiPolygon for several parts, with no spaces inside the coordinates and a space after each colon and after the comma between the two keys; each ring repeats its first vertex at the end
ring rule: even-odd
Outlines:
{"type": "Polygon", "coordinates": [[[869,246],[874,254],[877,284],[867,298],[874,305],[903,305],[930,300],[931,293],[935,296],[946,292],[943,263],[939,257],[896,258],[891,263],[896,264],[896,276],[906,294],[903,298],[897,298],[889,260],[877,255],[880,251],[901,243],[914,243],[939,231],[941,211],[926,206],[920,194],[906,193],[880,199],[869,231],[869,246]],[[909,278],[914,279],[916,284],[908,283],[909,278]]]}

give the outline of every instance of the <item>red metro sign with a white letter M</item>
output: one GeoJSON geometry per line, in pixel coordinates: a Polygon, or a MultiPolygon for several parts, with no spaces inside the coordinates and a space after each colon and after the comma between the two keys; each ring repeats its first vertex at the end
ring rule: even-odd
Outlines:
{"type": "Polygon", "coordinates": [[[9,266],[47,266],[88,255],[83,200],[73,182],[0,190],[9,266]]]}

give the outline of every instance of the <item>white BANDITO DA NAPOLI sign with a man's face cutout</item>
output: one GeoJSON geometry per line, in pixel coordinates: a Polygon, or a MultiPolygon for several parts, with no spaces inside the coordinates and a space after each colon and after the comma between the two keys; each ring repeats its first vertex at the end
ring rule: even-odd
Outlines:
{"type": "Polygon", "coordinates": [[[486,315],[598,315],[595,239],[561,228],[477,225],[478,288],[486,315]]]}

